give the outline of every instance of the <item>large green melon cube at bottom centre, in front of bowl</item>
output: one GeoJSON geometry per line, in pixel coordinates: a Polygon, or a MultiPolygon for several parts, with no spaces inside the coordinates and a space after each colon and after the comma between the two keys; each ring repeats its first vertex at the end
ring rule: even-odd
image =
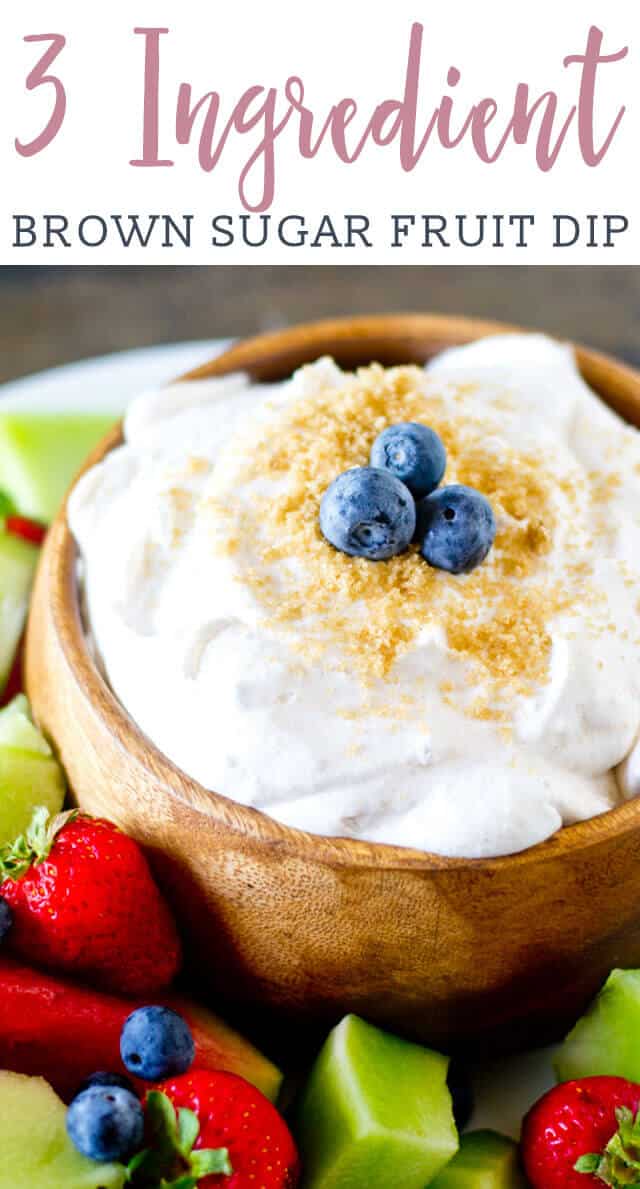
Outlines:
{"type": "Polygon", "coordinates": [[[425,1189],[458,1149],[448,1058],[347,1015],[303,1092],[306,1189],[425,1189]]]}

